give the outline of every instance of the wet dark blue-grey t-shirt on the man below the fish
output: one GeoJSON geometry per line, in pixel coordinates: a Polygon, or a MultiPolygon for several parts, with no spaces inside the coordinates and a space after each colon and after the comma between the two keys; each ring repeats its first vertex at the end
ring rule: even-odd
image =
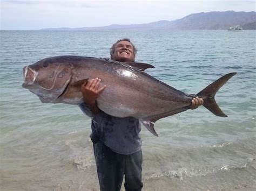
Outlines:
{"type": "Polygon", "coordinates": [[[90,136],[92,139],[97,137],[112,151],[119,154],[132,154],[141,149],[139,119],[114,117],[103,111],[100,111],[97,115],[92,115],[85,104],[80,104],[79,107],[84,114],[92,118],[92,133],[90,136]]]}

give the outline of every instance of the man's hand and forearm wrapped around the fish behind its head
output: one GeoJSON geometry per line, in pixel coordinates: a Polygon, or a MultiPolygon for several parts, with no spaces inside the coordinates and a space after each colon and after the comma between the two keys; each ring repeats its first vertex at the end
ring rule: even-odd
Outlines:
{"type": "Polygon", "coordinates": [[[93,115],[96,115],[99,113],[100,109],[97,106],[96,99],[99,96],[100,93],[106,88],[106,86],[103,86],[99,88],[99,84],[102,80],[98,79],[96,77],[95,79],[90,79],[88,82],[85,82],[81,86],[81,91],[83,94],[83,100],[93,115]]]}

